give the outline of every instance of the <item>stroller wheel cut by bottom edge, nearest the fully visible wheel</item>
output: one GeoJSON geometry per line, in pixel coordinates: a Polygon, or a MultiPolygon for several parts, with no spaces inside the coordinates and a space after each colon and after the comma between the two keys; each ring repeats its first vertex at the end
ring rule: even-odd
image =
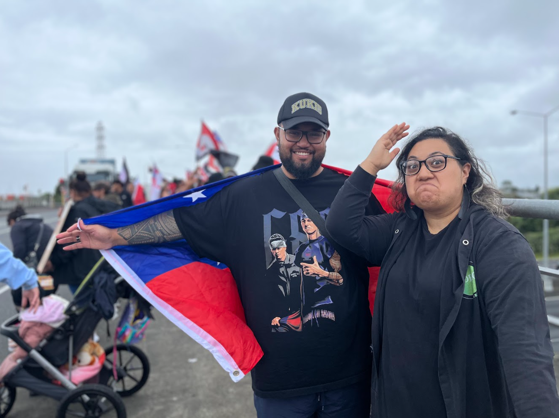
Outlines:
{"type": "Polygon", "coordinates": [[[126,418],[124,402],[104,385],[83,385],[67,393],[60,401],[57,418],[126,418]]]}

